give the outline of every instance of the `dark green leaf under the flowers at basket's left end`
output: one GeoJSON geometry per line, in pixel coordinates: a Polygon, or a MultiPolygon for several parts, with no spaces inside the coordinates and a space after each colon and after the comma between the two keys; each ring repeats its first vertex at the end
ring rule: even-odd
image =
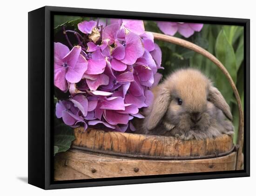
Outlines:
{"type": "Polygon", "coordinates": [[[70,126],[63,123],[55,126],[54,129],[54,155],[58,152],[65,152],[70,148],[74,140],[74,131],[70,126]]]}

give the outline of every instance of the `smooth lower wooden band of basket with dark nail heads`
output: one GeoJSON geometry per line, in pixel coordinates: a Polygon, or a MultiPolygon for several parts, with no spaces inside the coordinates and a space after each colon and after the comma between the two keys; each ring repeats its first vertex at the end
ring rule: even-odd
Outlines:
{"type": "Polygon", "coordinates": [[[219,158],[160,161],[117,158],[80,150],[69,150],[57,154],[54,161],[54,180],[73,180],[206,171],[232,171],[236,169],[236,152],[219,158]]]}

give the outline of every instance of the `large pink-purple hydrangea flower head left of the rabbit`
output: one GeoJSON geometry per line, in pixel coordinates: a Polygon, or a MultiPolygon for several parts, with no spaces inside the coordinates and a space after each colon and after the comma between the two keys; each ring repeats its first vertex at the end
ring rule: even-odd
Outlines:
{"type": "Polygon", "coordinates": [[[151,104],[150,88],[162,77],[162,52],[153,35],[141,20],[83,21],[78,29],[79,45],[71,50],[54,43],[54,85],[70,94],[57,102],[57,118],[72,127],[134,131],[130,120],[144,118],[139,109],[151,104]]]}

